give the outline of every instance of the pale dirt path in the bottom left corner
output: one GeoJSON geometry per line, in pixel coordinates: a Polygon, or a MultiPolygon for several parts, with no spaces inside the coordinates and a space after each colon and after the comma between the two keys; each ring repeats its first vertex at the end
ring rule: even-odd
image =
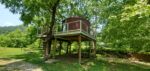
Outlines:
{"type": "Polygon", "coordinates": [[[0,59],[0,71],[42,71],[42,69],[22,60],[0,59]]]}

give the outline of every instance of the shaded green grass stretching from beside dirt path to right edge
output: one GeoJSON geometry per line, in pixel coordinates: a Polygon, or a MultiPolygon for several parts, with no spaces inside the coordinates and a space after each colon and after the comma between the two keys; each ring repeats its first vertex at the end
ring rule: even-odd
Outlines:
{"type": "Polygon", "coordinates": [[[48,64],[43,61],[40,54],[28,53],[16,55],[12,58],[23,59],[26,62],[36,64],[43,71],[150,71],[150,69],[144,69],[132,64],[113,63],[103,60],[89,60],[82,65],[79,65],[77,62],[67,63],[64,60],[48,64]],[[93,64],[89,65],[89,62],[93,64]],[[84,67],[87,67],[87,69],[84,67]]]}

